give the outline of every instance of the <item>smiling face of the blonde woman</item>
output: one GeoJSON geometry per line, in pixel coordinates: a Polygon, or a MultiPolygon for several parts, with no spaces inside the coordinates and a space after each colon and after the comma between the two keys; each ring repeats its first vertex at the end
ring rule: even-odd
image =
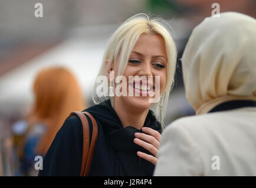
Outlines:
{"type": "MultiPolygon", "coordinates": [[[[114,100],[122,102],[127,107],[134,108],[134,110],[149,109],[153,105],[149,99],[155,98],[149,93],[159,92],[161,95],[165,90],[168,73],[167,64],[165,41],[162,36],[155,33],[143,33],[140,35],[130,54],[129,62],[123,74],[127,80],[127,95],[114,96],[114,100]],[[145,76],[146,82],[140,81],[138,85],[138,82],[133,80],[129,83],[129,76],[134,76],[134,78],[136,78],[135,76],[145,76]],[[149,76],[153,77],[153,79],[149,79],[149,76]],[[157,91],[155,82],[156,76],[160,78],[159,91],[157,91]],[[129,90],[132,90],[133,96],[129,95],[129,90]]],[[[117,75],[119,59],[117,59],[116,65],[114,72],[117,75]]]]}

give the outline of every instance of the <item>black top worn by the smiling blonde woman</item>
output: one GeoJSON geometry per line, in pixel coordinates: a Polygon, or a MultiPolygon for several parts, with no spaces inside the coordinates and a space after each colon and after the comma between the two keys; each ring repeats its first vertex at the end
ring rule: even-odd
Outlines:
{"type": "MultiPolygon", "coordinates": [[[[133,142],[134,133],[142,130],[132,126],[124,128],[110,100],[84,112],[91,113],[98,125],[98,138],[89,176],[153,175],[155,166],[137,156],[137,151],[150,153],[133,142]]],[[[92,123],[90,118],[87,119],[91,133],[92,123]]],[[[152,110],[149,110],[143,126],[161,133],[160,122],[152,110]]],[[[55,136],[44,157],[43,170],[40,170],[38,176],[80,176],[82,151],[83,127],[78,116],[71,116],[55,136]]]]}

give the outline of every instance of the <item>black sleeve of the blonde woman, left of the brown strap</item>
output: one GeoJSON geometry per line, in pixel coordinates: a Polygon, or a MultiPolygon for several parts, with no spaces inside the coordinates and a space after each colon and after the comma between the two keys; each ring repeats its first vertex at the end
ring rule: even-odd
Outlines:
{"type": "Polygon", "coordinates": [[[78,116],[65,120],[48,149],[38,176],[80,176],[83,127],[78,116]]]}

